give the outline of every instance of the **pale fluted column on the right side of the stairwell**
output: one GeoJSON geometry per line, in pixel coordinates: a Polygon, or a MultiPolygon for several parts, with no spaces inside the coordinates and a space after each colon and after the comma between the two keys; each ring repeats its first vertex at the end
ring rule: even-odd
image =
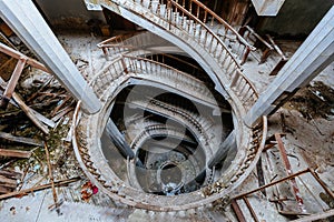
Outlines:
{"type": "Polygon", "coordinates": [[[278,72],[277,78],[261,94],[244,121],[254,125],[285,103],[299,88],[334,61],[334,7],[311,32],[307,39],[278,72]]]}

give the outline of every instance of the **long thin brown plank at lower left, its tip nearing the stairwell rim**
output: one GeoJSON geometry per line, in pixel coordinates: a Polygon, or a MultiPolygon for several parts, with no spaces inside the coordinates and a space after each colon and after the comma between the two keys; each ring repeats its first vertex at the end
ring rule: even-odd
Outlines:
{"type": "MultiPolygon", "coordinates": [[[[57,181],[57,182],[55,182],[55,186],[68,185],[69,183],[77,182],[78,180],[80,180],[79,176],[68,179],[68,180],[57,181]]],[[[31,193],[31,192],[35,192],[35,191],[41,191],[41,190],[49,189],[49,188],[51,188],[51,183],[39,185],[39,186],[36,186],[36,188],[24,189],[24,190],[21,190],[21,191],[14,191],[14,192],[11,192],[11,193],[0,195],[0,200],[4,200],[4,199],[8,199],[8,198],[12,198],[12,196],[27,195],[28,193],[31,193]]]]}

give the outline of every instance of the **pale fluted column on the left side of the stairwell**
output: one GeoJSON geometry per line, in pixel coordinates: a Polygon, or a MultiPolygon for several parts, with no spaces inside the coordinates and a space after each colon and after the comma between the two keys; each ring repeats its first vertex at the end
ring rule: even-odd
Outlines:
{"type": "Polygon", "coordinates": [[[31,0],[0,0],[0,17],[88,113],[101,104],[31,0]]]}

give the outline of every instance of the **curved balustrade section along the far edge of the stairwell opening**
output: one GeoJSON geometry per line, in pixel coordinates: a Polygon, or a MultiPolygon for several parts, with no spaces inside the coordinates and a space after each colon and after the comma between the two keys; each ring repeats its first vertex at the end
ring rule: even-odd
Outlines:
{"type": "MultiPolygon", "coordinates": [[[[163,56],[159,57],[159,59],[163,58],[163,56]]],[[[92,87],[97,97],[101,98],[102,92],[105,92],[110,81],[114,81],[118,78],[129,78],[127,73],[136,73],[137,75],[149,74],[153,75],[151,81],[158,79],[160,79],[159,81],[163,81],[164,78],[168,78],[170,81],[174,80],[174,82],[183,83],[187,89],[193,89],[191,92],[186,92],[183,89],[179,89],[180,91],[184,91],[184,94],[195,97],[199,101],[203,101],[202,103],[204,104],[208,104],[213,108],[218,108],[218,104],[216,103],[213,94],[200,80],[173,67],[147,58],[138,58],[132,56],[119,57],[114,60],[112,63],[97,73],[91,79],[89,84],[90,87],[92,87]]],[[[168,82],[165,82],[165,84],[166,83],[168,82]]]]}

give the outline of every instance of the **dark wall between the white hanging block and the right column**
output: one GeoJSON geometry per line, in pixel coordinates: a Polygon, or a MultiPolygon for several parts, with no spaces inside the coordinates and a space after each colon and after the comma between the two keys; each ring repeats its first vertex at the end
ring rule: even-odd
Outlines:
{"type": "Polygon", "coordinates": [[[276,17],[259,17],[257,31],[283,37],[306,37],[334,0],[286,0],[276,17]]]}

